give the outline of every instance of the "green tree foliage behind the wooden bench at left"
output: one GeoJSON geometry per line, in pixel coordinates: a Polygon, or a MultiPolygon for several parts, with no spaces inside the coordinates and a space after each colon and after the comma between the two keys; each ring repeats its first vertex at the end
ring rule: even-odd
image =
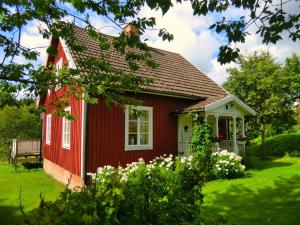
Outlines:
{"type": "Polygon", "coordinates": [[[12,139],[39,138],[40,116],[33,100],[0,110],[0,156],[7,156],[12,139]]]}

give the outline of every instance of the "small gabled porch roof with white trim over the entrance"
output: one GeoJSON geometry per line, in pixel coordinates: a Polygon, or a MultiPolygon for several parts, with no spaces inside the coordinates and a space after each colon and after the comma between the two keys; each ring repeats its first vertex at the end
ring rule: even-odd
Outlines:
{"type": "Polygon", "coordinates": [[[250,106],[248,106],[238,97],[231,94],[227,96],[209,97],[205,100],[190,105],[189,107],[181,110],[181,112],[192,112],[192,111],[210,112],[230,102],[236,103],[241,109],[243,109],[245,115],[251,115],[251,116],[256,115],[256,112],[250,106]]]}

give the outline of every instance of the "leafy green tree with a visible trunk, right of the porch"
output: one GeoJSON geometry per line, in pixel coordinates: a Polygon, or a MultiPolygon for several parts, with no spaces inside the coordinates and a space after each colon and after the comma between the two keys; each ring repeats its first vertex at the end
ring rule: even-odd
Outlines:
{"type": "Polygon", "coordinates": [[[241,57],[239,67],[230,68],[229,79],[224,87],[252,107],[257,116],[250,119],[254,129],[260,131],[262,148],[265,148],[267,128],[281,133],[295,124],[294,100],[299,96],[299,76],[290,63],[299,61],[293,55],[282,67],[269,52],[254,53],[241,57]]]}

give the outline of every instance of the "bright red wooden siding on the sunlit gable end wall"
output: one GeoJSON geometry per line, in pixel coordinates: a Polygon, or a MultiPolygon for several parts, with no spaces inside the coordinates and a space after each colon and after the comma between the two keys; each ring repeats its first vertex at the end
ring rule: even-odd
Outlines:
{"type": "MultiPolygon", "coordinates": [[[[56,63],[60,58],[63,58],[63,63],[67,64],[67,59],[63,48],[58,43],[58,53],[53,60],[56,63]]],[[[68,97],[71,114],[76,116],[76,120],[71,122],[71,141],[70,149],[62,148],[62,117],[52,115],[51,119],[51,143],[46,145],[46,115],[52,113],[55,108],[51,103],[63,97],[68,92],[68,88],[61,88],[56,92],[51,91],[45,99],[47,112],[44,113],[43,126],[43,157],[51,160],[55,164],[67,169],[73,174],[80,176],[81,167],[81,122],[82,122],[82,101],[76,100],[73,97],[68,97]]]]}

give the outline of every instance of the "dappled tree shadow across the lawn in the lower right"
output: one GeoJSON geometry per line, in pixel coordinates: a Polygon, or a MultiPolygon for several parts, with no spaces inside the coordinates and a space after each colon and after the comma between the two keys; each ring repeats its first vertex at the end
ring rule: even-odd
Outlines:
{"type": "Polygon", "coordinates": [[[211,195],[202,206],[204,219],[224,217],[235,225],[294,225],[300,221],[300,176],[278,178],[273,187],[232,186],[211,195]]]}

